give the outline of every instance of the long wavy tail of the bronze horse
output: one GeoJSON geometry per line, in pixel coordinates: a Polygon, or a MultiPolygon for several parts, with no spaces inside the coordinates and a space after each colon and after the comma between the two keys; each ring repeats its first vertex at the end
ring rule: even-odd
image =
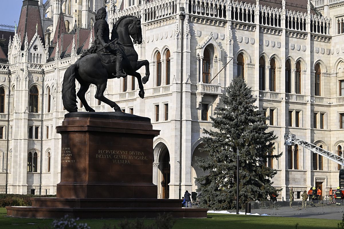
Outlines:
{"type": "Polygon", "coordinates": [[[78,74],[79,61],[69,66],[63,77],[62,84],[62,102],[63,106],[68,112],[77,112],[76,106],[76,91],[75,91],[75,77],[78,74]]]}

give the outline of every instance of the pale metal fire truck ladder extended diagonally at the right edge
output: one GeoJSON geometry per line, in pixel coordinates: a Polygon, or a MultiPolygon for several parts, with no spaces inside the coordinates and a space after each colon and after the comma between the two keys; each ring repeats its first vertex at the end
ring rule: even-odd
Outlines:
{"type": "Polygon", "coordinates": [[[296,138],[294,134],[284,134],[284,145],[286,146],[292,146],[298,144],[306,149],[309,149],[310,151],[314,153],[318,153],[319,155],[330,159],[331,161],[334,161],[340,165],[344,165],[344,158],[335,155],[327,150],[324,150],[318,146],[313,145],[312,143],[309,143],[307,141],[301,140],[299,138],[296,138]]]}

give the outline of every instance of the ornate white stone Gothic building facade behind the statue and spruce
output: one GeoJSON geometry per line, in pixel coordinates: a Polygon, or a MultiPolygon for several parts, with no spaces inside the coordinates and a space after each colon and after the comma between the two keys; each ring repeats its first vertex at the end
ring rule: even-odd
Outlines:
{"type": "MultiPolygon", "coordinates": [[[[56,194],[63,76],[93,44],[100,7],[110,31],[123,15],[141,17],[135,47],[150,63],[145,98],[132,76],[109,80],[105,96],[161,130],[152,168],[158,198],[197,189],[203,128],[212,128],[209,116],[237,76],[278,137],[274,153],[283,154],[267,162],[278,171],[278,198],[289,199],[291,186],[295,200],[314,185],[323,195],[338,186],[338,164],[284,146],[284,134],[343,156],[344,0],[24,0],[18,26],[0,28],[0,193],[56,194]]],[[[94,94],[91,85],[95,111],[113,111],[94,94]]],[[[79,100],[78,108],[85,111],[79,100]]]]}

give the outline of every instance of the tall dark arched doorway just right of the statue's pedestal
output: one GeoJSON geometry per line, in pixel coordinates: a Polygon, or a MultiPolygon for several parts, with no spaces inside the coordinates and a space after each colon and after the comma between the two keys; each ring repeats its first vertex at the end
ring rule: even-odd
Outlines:
{"type": "Polygon", "coordinates": [[[171,165],[170,165],[170,153],[166,149],[161,155],[160,161],[160,171],[161,171],[161,187],[162,187],[162,198],[168,199],[170,197],[170,186],[171,181],[171,165]]]}

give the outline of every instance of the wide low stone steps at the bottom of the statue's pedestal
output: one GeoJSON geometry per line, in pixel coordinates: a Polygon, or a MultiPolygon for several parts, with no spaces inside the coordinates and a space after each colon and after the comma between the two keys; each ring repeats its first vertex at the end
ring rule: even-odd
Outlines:
{"type": "Polygon", "coordinates": [[[169,213],[173,218],[206,218],[206,208],[182,208],[179,199],[74,199],[31,198],[33,206],[6,207],[7,215],[23,218],[82,219],[154,218],[169,213]]]}

